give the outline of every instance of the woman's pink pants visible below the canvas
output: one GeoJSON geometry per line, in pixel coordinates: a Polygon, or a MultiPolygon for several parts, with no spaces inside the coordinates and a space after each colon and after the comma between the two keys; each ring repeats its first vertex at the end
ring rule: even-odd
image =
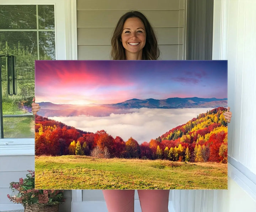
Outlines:
{"type": "MultiPolygon", "coordinates": [[[[138,190],[142,212],[168,212],[170,190],[138,190]]],[[[134,212],[134,190],[103,190],[108,212],[134,212]]]]}

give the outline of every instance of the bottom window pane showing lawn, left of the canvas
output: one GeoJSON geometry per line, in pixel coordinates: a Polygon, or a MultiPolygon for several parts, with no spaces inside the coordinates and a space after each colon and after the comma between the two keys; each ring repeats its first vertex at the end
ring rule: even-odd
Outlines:
{"type": "Polygon", "coordinates": [[[33,138],[34,116],[4,117],[5,138],[33,138]]]}

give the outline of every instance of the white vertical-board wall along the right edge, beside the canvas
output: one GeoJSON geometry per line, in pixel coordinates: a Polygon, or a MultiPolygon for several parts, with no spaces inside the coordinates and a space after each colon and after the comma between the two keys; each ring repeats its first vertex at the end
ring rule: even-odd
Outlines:
{"type": "Polygon", "coordinates": [[[229,156],[256,174],[256,1],[225,1],[223,55],[228,59],[229,156]]]}

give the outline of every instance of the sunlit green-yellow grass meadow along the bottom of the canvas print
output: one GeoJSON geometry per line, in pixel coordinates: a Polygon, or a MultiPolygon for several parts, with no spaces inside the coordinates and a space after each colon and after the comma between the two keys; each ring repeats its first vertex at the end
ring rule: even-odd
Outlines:
{"type": "Polygon", "coordinates": [[[36,156],[36,189],[228,189],[227,164],[36,156]]]}

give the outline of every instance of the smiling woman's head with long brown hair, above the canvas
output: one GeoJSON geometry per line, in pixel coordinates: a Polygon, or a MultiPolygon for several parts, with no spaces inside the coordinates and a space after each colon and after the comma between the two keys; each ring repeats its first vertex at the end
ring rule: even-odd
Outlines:
{"type": "Polygon", "coordinates": [[[156,60],[160,56],[154,30],[148,19],[138,11],[127,12],[119,19],[111,46],[114,60],[156,60]]]}

